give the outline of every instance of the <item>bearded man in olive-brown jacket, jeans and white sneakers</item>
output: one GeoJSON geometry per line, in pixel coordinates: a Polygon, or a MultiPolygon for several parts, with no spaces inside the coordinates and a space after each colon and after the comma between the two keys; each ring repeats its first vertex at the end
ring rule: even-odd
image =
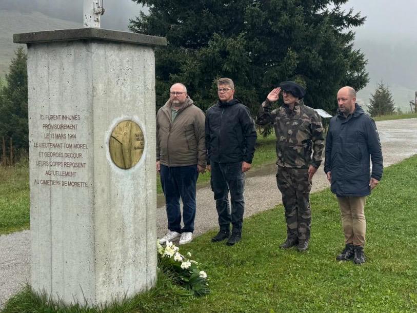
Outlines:
{"type": "Polygon", "coordinates": [[[169,94],[169,100],[156,114],[156,169],[161,174],[169,229],[160,243],[180,237],[181,245],[192,240],[195,184],[198,173],[204,173],[206,168],[205,116],[183,84],[172,85],[169,94]]]}

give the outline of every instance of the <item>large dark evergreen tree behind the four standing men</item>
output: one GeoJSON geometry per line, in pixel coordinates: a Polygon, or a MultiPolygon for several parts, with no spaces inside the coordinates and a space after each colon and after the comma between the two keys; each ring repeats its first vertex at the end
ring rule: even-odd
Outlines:
{"type": "Polygon", "coordinates": [[[133,1],[149,14],[130,21],[130,29],[167,37],[168,46],[155,51],[158,106],[170,85],[182,82],[207,109],[223,76],[252,113],[286,80],[306,87],[307,105],[334,112],[341,86],[359,90],[368,82],[364,54],[353,49],[348,30],[365,17],[342,11],[347,0],[133,1]]]}

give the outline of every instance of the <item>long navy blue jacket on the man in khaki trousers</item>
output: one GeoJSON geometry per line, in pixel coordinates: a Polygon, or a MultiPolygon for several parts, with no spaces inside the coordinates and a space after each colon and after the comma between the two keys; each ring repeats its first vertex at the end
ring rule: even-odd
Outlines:
{"type": "Polygon", "coordinates": [[[338,110],[330,120],[324,171],[331,171],[330,188],[337,197],[369,195],[371,177],[378,181],[382,178],[383,159],[378,130],[357,103],[347,118],[338,110]]]}

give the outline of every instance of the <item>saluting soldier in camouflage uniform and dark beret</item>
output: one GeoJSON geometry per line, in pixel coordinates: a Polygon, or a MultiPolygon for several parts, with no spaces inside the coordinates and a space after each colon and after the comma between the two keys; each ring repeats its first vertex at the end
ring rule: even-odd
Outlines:
{"type": "Polygon", "coordinates": [[[322,162],[323,127],[319,114],[304,105],[305,90],[294,82],[282,82],[262,104],[257,124],[273,123],[276,135],[276,184],[282,193],[287,240],[281,248],[308,248],[311,226],[310,190],[314,173],[322,162]],[[283,93],[284,105],[270,106],[283,93]],[[313,151],[313,153],[312,153],[313,151]],[[311,156],[312,154],[312,156],[311,156]]]}

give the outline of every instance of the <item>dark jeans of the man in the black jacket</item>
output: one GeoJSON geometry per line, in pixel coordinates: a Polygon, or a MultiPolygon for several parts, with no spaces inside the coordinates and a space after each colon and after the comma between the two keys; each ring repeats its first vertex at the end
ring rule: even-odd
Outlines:
{"type": "Polygon", "coordinates": [[[243,197],[245,173],[242,173],[242,162],[210,162],[210,165],[211,190],[214,192],[220,229],[229,230],[230,223],[232,223],[233,231],[241,232],[245,209],[245,199],[243,197]],[[228,199],[229,191],[231,211],[228,199]]]}

